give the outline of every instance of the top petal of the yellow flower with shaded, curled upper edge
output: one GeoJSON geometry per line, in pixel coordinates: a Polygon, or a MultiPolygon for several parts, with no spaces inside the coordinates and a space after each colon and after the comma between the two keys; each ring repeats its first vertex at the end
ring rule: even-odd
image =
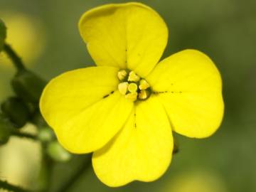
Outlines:
{"type": "Polygon", "coordinates": [[[108,4],[85,12],[80,34],[97,65],[129,68],[146,76],[166,47],[168,29],[149,6],[108,4]]]}

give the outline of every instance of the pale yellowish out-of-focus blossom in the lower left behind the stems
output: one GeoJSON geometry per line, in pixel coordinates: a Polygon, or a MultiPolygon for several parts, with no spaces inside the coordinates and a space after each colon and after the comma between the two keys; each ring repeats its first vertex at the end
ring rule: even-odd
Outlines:
{"type": "MultiPolygon", "coordinates": [[[[36,127],[27,124],[23,132],[36,133],[36,127]]],[[[36,187],[41,163],[41,145],[31,139],[11,137],[0,148],[0,177],[17,186],[36,187]]],[[[0,189],[1,191],[1,189],[0,189]]]]}

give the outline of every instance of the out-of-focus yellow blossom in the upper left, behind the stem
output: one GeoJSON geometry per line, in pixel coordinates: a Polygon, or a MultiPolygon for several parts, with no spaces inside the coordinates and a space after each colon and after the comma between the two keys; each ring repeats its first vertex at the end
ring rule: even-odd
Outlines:
{"type": "MultiPolygon", "coordinates": [[[[32,16],[13,11],[0,11],[0,18],[7,28],[6,42],[21,56],[26,65],[31,65],[43,53],[46,33],[42,23],[32,16]]],[[[0,66],[11,66],[5,53],[0,54],[0,66]]]]}

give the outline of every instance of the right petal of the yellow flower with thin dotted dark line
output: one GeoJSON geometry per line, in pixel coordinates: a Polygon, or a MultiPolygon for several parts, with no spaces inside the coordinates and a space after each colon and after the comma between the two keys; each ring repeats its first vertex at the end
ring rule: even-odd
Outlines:
{"type": "Polygon", "coordinates": [[[208,56],[183,50],[161,61],[146,78],[169,114],[172,129],[187,137],[213,134],[223,119],[220,73],[208,56]]]}

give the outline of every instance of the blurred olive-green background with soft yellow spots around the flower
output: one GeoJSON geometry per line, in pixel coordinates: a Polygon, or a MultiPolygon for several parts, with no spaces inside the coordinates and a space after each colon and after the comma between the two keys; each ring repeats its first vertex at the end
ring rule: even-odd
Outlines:
{"type": "MultiPolygon", "coordinates": [[[[0,18],[8,41],[28,68],[49,80],[67,70],[94,65],[78,33],[78,20],[92,7],[124,1],[0,0],[0,18]]],[[[223,77],[225,117],[213,137],[188,139],[176,135],[180,151],[158,181],[134,182],[122,188],[100,183],[92,169],[70,191],[256,191],[256,1],[141,1],[164,18],[169,45],[163,57],[186,48],[203,51],[223,77]]],[[[0,101],[13,95],[14,68],[0,56],[0,101]]],[[[33,127],[28,127],[33,129],[33,127]]],[[[0,149],[0,178],[33,187],[38,174],[38,144],[11,139],[0,149]]],[[[55,191],[83,162],[73,156],[54,167],[55,191]]]]}

